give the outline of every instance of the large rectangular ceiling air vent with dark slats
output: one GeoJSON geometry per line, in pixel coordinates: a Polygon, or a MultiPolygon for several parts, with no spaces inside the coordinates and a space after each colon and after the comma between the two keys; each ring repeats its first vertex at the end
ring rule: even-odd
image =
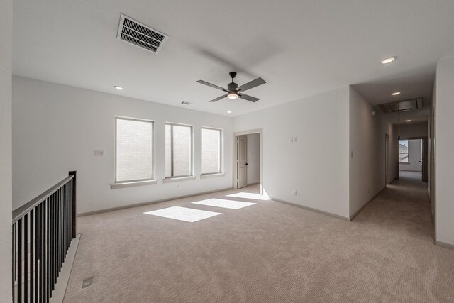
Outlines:
{"type": "Polygon", "coordinates": [[[169,36],[145,26],[145,24],[139,23],[122,13],[116,38],[157,54],[169,36]]]}

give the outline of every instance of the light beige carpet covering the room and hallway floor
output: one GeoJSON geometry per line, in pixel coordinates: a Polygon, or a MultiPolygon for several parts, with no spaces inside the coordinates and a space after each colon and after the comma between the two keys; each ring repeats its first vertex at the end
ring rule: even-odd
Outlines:
{"type": "Polygon", "coordinates": [[[352,222],[226,197],[241,190],[85,216],[65,302],[453,302],[425,186],[396,180],[352,222]],[[256,204],[195,223],[143,214],[218,211],[191,203],[213,197],[256,204]]]}

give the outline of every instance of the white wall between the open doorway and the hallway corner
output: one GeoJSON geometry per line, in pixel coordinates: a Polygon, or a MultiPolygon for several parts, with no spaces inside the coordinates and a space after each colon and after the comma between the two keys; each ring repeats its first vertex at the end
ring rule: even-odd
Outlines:
{"type": "Polygon", "coordinates": [[[233,126],[262,128],[270,197],[348,218],[348,87],[236,117],[233,126]]]}

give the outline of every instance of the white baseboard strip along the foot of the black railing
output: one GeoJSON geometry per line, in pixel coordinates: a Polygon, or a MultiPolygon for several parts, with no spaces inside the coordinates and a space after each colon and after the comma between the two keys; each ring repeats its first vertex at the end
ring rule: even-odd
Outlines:
{"type": "Polygon", "coordinates": [[[76,238],[72,239],[70,248],[68,248],[65,262],[63,263],[62,270],[60,275],[57,278],[57,283],[55,284],[55,290],[52,291],[52,297],[49,300],[49,303],[62,303],[65,299],[65,292],[68,282],[70,281],[70,275],[72,270],[72,264],[76,258],[77,247],[79,246],[80,233],[77,234],[76,238]]]}

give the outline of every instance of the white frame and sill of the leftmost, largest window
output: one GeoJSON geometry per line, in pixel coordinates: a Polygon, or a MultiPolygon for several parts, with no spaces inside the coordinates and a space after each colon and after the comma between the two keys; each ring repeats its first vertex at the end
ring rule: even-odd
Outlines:
{"type": "Polygon", "coordinates": [[[114,147],[114,184],[111,184],[111,188],[119,188],[119,187],[129,187],[129,186],[135,186],[137,185],[148,185],[148,184],[155,184],[156,183],[156,166],[155,166],[155,149],[156,149],[156,144],[155,144],[155,121],[154,120],[149,120],[149,119],[140,119],[140,118],[132,118],[132,117],[126,117],[126,116],[114,116],[115,117],[115,147],[114,147]],[[148,122],[151,123],[151,142],[152,142],[152,148],[151,148],[151,165],[153,169],[151,170],[151,178],[146,178],[146,179],[137,179],[137,180],[123,180],[123,181],[118,181],[117,178],[117,141],[118,141],[118,119],[121,120],[129,120],[129,121],[140,121],[140,122],[148,122]]]}

